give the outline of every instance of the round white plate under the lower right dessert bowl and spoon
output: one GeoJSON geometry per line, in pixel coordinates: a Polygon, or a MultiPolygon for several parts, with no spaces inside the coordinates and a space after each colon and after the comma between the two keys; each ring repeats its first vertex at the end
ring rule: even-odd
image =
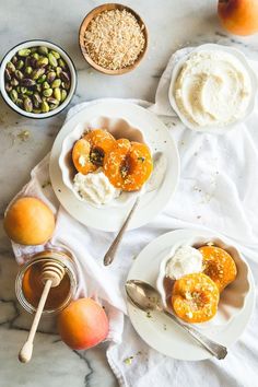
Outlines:
{"type": "MultiPolygon", "coordinates": [[[[139,254],[129,271],[127,280],[143,280],[155,286],[161,261],[171,247],[181,239],[190,239],[202,235],[212,237],[214,234],[200,230],[177,230],[166,233],[152,241],[139,254]]],[[[223,237],[226,244],[231,245],[223,237]]],[[[246,263],[247,265],[247,263],[246,263]]],[[[244,332],[255,305],[255,282],[248,268],[250,289],[246,295],[242,310],[228,324],[220,327],[210,327],[206,335],[230,348],[244,332]]],[[[202,347],[189,337],[169,317],[161,313],[151,313],[151,318],[130,302],[127,303],[130,320],[140,337],[156,351],[178,360],[200,361],[211,357],[202,347]]]]}

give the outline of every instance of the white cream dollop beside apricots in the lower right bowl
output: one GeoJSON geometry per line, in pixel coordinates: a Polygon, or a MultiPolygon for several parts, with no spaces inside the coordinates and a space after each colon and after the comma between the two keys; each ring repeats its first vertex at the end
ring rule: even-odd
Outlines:
{"type": "Polygon", "coordinates": [[[181,246],[166,263],[166,277],[173,280],[202,271],[202,254],[195,247],[181,246]]]}

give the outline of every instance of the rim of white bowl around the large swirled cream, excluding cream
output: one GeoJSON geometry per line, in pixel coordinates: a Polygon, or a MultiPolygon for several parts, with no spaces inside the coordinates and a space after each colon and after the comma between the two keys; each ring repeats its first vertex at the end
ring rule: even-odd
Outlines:
{"type": "Polygon", "coordinates": [[[194,131],[200,131],[200,132],[210,132],[210,133],[214,133],[214,134],[224,134],[226,132],[228,132],[232,129],[236,128],[237,124],[243,122],[255,109],[255,105],[256,105],[256,95],[257,95],[257,87],[258,87],[258,82],[257,82],[257,77],[254,72],[254,70],[250,68],[246,56],[239,51],[236,48],[233,47],[227,47],[227,46],[222,46],[222,45],[216,45],[216,44],[206,44],[206,45],[201,45],[195,49],[192,49],[192,51],[190,51],[189,54],[185,55],[181,59],[178,60],[178,62],[174,66],[173,70],[172,70],[172,78],[171,78],[171,85],[168,89],[168,99],[169,103],[173,107],[173,109],[176,112],[177,116],[180,118],[181,122],[189,129],[194,130],[194,131]],[[242,64],[245,67],[249,78],[250,78],[250,84],[251,84],[251,96],[250,96],[250,101],[249,101],[249,105],[246,109],[246,114],[245,117],[236,120],[235,122],[227,125],[227,126],[209,126],[209,127],[200,127],[198,125],[195,125],[192,122],[190,122],[184,114],[181,114],[181,112],[179,110],[177,104],[176,104],[176,99],[174,97],[174,87],[175,87],[175,82],[179,75],[179,72],[184,66],[184,63],[186,62],[186,60],[189,58],[190,55],[192,55],[192,52],[199,52],[199,51],[225,51],[227,54],[233,55],[234,57],[236,57],[242,64]]]}

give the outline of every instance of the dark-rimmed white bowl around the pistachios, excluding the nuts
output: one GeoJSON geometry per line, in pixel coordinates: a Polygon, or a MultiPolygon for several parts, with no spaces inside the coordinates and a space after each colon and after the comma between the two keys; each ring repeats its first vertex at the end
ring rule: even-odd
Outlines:
{"type": "Polygon", "coordinates": [[[77,89],[77,71],[75,71],[75,67],[71,60],[71,58],[69,57],[69,55],[59,46],[47,42],[47,40],[26,40],[23,42],[19,45],[16,45],[15,47],[13,47],[2,59],[1,62],[1,68],[0,68],[0,90],[1,90],[1,94],[3,99],[5,101],[5,103],[16,113],[21,114],[22,116],[28,117],[28,118],[48,118],[51,116],[56,116],[58,113],[60,113],[61,110],[63,110],[68,104],[70,103],[74,92],[77,89]],[[71,74],[71,87],[69,90],[68,96],[67,98],[63,101],[63,103],[61,103],[56,109],[50,110],[48,113],[42,113],[42,114],[35,114],[35,113],[28,113],[23,110],[22,108],[20,108],[17,105],[15,105],[12,99],[9,97],[5,87],[4,87],[4,70],[7,67],[7,63],[12,59],[12,57],[20,50],[23,48],[30,48],[30,47],[36,47],[36,46],[46,46],[50,49],[56,50],[57,52],[60,54],[60,56],[64,59],[64,61],[67,62],[69,70],[70,70],[70,74],[71,74]]]}

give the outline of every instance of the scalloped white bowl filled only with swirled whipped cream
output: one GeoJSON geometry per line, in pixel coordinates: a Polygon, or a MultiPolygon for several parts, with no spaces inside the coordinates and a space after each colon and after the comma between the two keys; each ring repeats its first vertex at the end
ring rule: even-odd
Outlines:
{"type": "Polygon", "coordinates": [[[222,134],[253,113],[257,84],[242,51],[206,44],[177,61],[168,98],[187,128],[222,134]]]}

